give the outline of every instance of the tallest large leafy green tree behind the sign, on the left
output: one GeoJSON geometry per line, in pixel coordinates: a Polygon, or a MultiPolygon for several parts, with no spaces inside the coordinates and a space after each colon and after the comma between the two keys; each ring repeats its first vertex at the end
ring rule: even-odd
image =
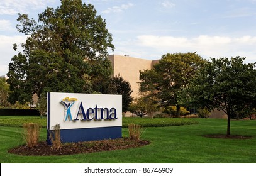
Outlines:
{"type": "MultiPolygon", "coordinates": [[[[46,92],[94,92],[112,74],[107,58],[114,50],[106,22],[94,6],[81,0],[62,0],[45,9],[38,22],[19,14],[19,32],[28,35],[23,53],[9,63],[10,101],[31,101],[46,92]]],[[[17,45],[13,45],[14,50],[17,45]]]]}

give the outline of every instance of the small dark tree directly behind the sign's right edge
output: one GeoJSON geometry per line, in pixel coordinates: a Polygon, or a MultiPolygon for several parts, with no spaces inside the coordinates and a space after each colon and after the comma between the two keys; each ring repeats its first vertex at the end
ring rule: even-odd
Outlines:
{"type": "Polygon", "coordinates": [[[117,75],[112,77],[109,81],[108,86],[108,94],[119,94],[122,95],[122,107],[123,112],[127,112],[128,108],[133,101],[133,97],[131,97],[131,85],[128,81],[123,80],[123,77],[117,75]]]}

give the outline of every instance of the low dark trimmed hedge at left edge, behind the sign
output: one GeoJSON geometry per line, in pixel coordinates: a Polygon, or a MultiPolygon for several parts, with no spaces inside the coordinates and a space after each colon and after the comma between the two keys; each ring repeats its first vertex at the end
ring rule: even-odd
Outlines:
{"type": "Polygon", "coordinates": [[[0,116],[40,116],[36,109],[0,109],[0,116]]]}

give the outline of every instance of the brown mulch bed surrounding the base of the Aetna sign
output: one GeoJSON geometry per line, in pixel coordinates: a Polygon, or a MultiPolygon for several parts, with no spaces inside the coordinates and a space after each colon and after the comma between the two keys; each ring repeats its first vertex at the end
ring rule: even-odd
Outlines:
{"type": "Polygon", "coordinates": [[[53,150],[45,141],[33,147],[19,146],[8,151],[17,155],[74,155],[79,153],[94,153],[99,151],[122,150],[148,145],[145,140],[119,138],[115,140],[87,141],[79,143],[65,143],[58,150],[53,150]]]}

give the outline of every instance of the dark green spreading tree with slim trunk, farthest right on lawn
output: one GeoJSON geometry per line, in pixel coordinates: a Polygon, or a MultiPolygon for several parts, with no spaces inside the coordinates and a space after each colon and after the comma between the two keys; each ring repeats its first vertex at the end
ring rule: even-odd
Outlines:
{"type": "Polygon", "coordinates": [[[256,107],[256,63],[245,64],[245,58],[211,58],[199,70],[182,93],[181,101],[208,109],[220,109],[230,119],[243,109],[256,107]]]}

